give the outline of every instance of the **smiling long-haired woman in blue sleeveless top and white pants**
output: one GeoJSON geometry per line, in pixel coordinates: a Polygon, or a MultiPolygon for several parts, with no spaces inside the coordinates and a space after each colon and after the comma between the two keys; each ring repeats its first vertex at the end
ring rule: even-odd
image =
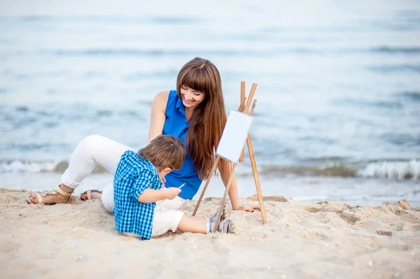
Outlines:
{"type": "MultiPolygon", "coordinates": [[[[185,64],[176,79],[176,91],[164,91],[155,96],[152,104],[151,126],[148,143],[161,134],[176,136],[186,145],[186,160],[179,171],[172,171],[165,176],[165,187],[179,187],[183,183],[181,194],[176,199],[165,200],[161,206],[179,209],[184,199],[193,199],[202,180],[209,177],[216,150],[227,116],[221,77],[216,66],[209,60],[195,58],[185,64]],[[166,180],[166,181],[165,181],[166,180]]],[[[83,139],[70,160],[69,168],[64,172],[57,191],[31,193],[31,203],[67,203],[71,193],[83,178],[92,173],[94,166],[100,164],[110,173],[115,173],[121,155],[127,150],[134,150],[121,143],[102,136],[87,136],[83,139]]],[[[225,185],[230,176],[228,162],[221,160],[218,170],[225,185]]],[[[241,205],[237,193],[236,179],[232,179],[229,189],[230,201],[234,210],[253,211],[258,205],[241,205]]],[[[89,198],[102,199],[105,208],[112,212],[113,186],[89,193],[89,198]]],[[[87,193],[81,199],[87,199],[87,193]]]]}

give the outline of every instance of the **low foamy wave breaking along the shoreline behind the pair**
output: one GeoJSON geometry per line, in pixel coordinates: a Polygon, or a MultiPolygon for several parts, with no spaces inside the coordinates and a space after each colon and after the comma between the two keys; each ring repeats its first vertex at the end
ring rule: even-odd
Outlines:
{"type": "MultiPolygon", "coordinates": [[[[62,173],[69,166],[69,162],[24,162],[10,161],[0,163],[0,173],[28,173],[55,172],[62,173]]],[[[108,173],[102,166],[97,166],[93,173],[108,173]]],[[[258,168],[260,176],[287,175],[296,176],[333,176],[333,177],[362,177],[388,178],[393,180],[420,179],[420,160],[410,161],[377,161],[341,163],[333,162],[318,166],[261,166],[258,168]]],[[[241,170],[237,176],[252,176],[252,172],[241,170]]]]}

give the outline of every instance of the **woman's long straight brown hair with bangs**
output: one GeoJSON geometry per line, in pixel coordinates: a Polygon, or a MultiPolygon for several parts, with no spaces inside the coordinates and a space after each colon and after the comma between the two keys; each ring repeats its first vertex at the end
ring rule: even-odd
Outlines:
{"type": "MultiPolygon", "coordinates": [[[[204,93],[204,100],[193,110],[187,134],[187,152],[197,168],[201,180],[209,178],[215,152],[226,124],[221,75],[207,59],[195,57],[178,73],[176,90],[181,96],[181,86],[204,93]]],[[[221,160],[218,169],[223,183],[228,183],[230,164],[221,160]]]]}

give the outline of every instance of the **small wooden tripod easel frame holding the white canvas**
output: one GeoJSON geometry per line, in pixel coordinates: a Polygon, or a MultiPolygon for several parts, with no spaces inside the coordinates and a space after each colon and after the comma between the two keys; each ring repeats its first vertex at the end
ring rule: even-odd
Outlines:
{"type": "MultiPolygon", "coordinates": [[[[249,107],[251,106],[251,101],[253,99],[253,96],[255,94],[256,89],[257,89],[257,84],[253,83],[253,85],[251,87],[251,92],[249,93],[248,99],[246,100],[245,82],[241,81],[241,104],[240,104],[239,109],[238,109],[239,112],[246,113],[248,115],[253,115],[253,110],[255,109],[255,105],[257,103],[256,99],[253,101],[251,111],[248,112],[248,110],[249,110],[249,107]],[[245,104],[245,101],[246,101],[246,104],[245,104]]],[[[255,163],[255,156],[254,156],[254,152],[253,152],[251,134],[249,134],[249,133],[248,133],[248,136],[246,137],[246,145],[248,145],[249,157],[251,159],[252,172],[253,172],[253,177],[254,177],[254,180],[255,180],[255,187],[257,189],[258,202],[260,203],[262,224],[265,224],[265,223],[267,223],[267,217],[265,216],[264,201],[262,200],[260,178],[258,178],[257,164],[255,163]]],[[[211,168],[209,178],[207,178],[206,185],[204,185],[202,194],[200,195],[200,199],[198,199],[197,205],[194,208],[193,216],[195,216],[195,213],[197,213],[197,210],[198,210],[198,208],[200,206],[200,203],[203,199],[204,193],[206,192],[207,186],[209,186],[211,177],[213,176],[213,173],[216,171],[216,167],[217,167],[220,159],[225,159],[225,158],[216,154],[215,162],[213,164],[213,167],[211,168]]],[[[229,162],[232,164],[232,171],[230,172],[228,185],[226,185],[225,194],[223,194],[223,199],[222,199],[222,203],[221,203],[221,210],[219,210],[217,220],[216,220],[216,225],[214,226],[214,231],[213,232],[217,231],[218,224],[221,220],[221,215],[222,215],[222,212],[223,212],[223,206],[225,206],[226,196],[228,195],[228,192],[229,192],[229,189],[230,189],[230,184],[232,183],[232,177],[233,177],[233,174],[235,173],[235,169],[236,169],[236,166],[237,166],[237,162],[231,162],[231,161],[229,161],[229,162]]],[[[239,162],[244,162],[244,150],[242,150],[242,152],[241,152],[239,162]]]]}

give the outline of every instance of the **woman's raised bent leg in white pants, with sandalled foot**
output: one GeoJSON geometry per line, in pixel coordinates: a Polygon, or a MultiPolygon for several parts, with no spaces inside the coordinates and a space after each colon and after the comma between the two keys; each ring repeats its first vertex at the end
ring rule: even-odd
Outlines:
{"type": "MultiPolygon", "coordinates": [[[[83,178],[92,173],[96,164],[100,164],[112,174],[116,173],[121,155],[127,150],[136,151],[104,136],[87,136],[76,146],[69,167],[62,175],[60,188],[64,192],[73,192],[83,178]]],[[[31,194],[30,199],[34,203],[37,202],[35,194],[31,194]]],[[[43,203],[65,203],[68,199],[67,196],[57,193],[45,196],[43,203]]]]}

